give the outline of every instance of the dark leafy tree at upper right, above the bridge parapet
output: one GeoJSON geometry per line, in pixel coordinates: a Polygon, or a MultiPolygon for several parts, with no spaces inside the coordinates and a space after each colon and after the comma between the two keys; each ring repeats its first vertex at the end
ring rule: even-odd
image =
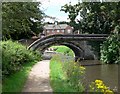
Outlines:
{"type": "Polygon", "coordinates": [[[76,17],[79,15],[77,27],[82,32],[104,34],[111,33],[120,23],[120,2],[83,2],[75,5],[66,4],[62,11],[68,13],[71,25],[75,27],[76,17]]]}

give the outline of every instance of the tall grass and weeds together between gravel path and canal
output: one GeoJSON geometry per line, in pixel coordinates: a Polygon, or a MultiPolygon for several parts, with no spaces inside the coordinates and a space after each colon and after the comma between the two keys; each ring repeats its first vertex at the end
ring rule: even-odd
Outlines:
{"type": "Polygon", "coordinates": [[[83,92],[82,77],[85,68],[76,62],[63,62],[59,55],[50,62],[50,81],[54,92],[83,92]]]}

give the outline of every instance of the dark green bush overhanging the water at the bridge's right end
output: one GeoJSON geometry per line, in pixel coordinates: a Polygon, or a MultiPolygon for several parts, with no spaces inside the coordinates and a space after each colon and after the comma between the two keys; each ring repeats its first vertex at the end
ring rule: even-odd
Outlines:
{"type": "Polygon", "coordinates": [[[110,35],[101,46],[101,61],[103,63],[120,62],[120,35],[110,35]]]}

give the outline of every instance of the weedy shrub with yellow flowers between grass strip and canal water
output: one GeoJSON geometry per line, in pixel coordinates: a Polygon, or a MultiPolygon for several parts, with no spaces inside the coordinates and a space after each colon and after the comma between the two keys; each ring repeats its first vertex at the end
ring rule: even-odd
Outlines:
{"type": "Polygon", "coordinates": [[[68,78],[70,86],[79,92],[84,91],[82,80],[85,74],[85,67],[72,61],[62,63],[62,69],[68,78]]]}

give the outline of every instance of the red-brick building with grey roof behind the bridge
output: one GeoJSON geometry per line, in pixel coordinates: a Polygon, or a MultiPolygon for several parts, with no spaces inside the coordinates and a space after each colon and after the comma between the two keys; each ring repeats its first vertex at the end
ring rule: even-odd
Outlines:
{"type": "Polygon", "coordinates": [[[73,28],[67,24],[47,24],[44,26],[45,36],[54,34],[73,34],[73,28]]]}

